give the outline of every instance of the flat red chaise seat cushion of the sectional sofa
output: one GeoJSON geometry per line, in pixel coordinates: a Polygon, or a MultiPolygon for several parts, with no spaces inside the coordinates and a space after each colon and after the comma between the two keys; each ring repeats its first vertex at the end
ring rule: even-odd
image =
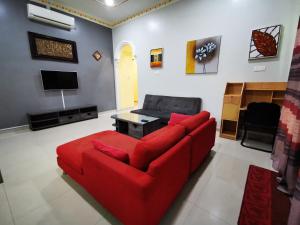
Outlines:
{"type": "Polygon", "coordinates": [[[58,146],[57,156],[76,172],[83,174],[82,153],[87,150],[95,150],[92,141],[97,139],[106,145],[124,150],[129,157],[138,142],[135,138],[115,131],[103,131],[58,146]]]}

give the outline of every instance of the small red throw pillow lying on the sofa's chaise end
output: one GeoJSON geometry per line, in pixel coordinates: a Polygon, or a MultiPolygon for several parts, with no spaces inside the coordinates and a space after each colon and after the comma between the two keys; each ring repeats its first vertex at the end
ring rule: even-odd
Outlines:
{"type": "Polygon", "coordinates": [[[118,149],[116,147],[107,146],[107,145],[103,144],[103,142],[100,140],[93,140],[92,143],[93,143],[95,149],[104,153],[105,155],[108,155],[119,161],[128,163],[129,156],[128,156],[127,152],[125,152],[121,149],[118,149]]]}

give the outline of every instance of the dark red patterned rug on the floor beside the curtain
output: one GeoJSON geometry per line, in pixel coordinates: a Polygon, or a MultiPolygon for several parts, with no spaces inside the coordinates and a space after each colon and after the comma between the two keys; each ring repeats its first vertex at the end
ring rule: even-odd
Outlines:
{"type": "Polygon", "coordinates": [[[287,224],[290,200],[276,189],[276,177],[276,172],[249,166],[238,225],[287,224]]]}

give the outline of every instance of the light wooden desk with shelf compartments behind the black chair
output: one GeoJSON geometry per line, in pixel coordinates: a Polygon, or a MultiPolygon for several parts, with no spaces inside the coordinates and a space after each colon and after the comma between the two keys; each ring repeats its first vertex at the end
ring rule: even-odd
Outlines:
{"type": "Polygon", "coordinates": [[[223,98],[220,137],[236,140],[240,112],[251,102],[273,102],[282,105],[286,82],[227,83],[223,98]]]}

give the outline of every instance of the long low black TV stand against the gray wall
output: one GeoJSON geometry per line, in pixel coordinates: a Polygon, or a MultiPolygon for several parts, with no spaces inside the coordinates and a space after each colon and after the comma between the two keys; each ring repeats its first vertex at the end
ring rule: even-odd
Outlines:
{"type": "Polygon", "coordinates": [[[50,112],[28,113],[27,118],[30,129],[35,131],[98,118],[98,109],[97,106],[67,108],[50,112]]]}

